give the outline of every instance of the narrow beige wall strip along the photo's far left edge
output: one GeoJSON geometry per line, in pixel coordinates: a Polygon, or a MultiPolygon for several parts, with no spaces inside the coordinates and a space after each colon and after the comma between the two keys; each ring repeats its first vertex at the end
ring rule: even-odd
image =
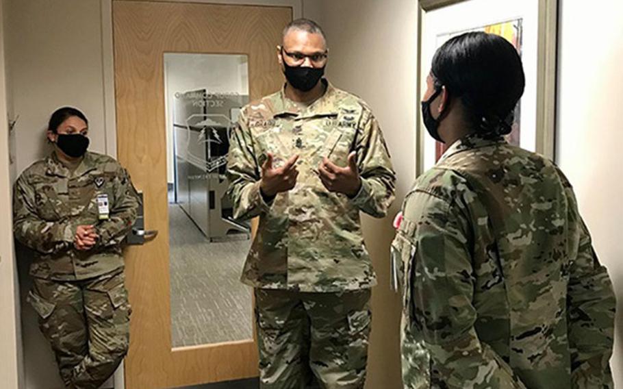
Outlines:
{"type": "MultiPolygon", "coordinates": [[[[7,117],[4,7],[4,1],[0,2],[0,210],[10,210],[9,134],[4,119],[7,117]]],[[[15,275],[11,213],[3,211],[0,212],[0,385],[3,388],[18,388],[20,353],[15,275]]]]}

